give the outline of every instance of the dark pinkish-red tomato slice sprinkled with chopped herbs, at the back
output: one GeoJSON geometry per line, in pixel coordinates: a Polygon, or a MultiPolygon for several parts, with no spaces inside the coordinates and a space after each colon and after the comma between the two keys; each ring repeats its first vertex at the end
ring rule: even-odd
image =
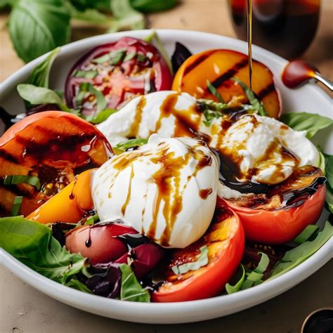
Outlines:
{"type": "Polygon", "coordinates": [[[103,93],[106,107],[119,109],[138,95],[170,89],[171,81],[169,67],[155,46],[123,37],[93,48],[75,63],[67,77],[65,97],[70,107],[92,115],[98,109],[98,98],[85,84],[103,93]]]}

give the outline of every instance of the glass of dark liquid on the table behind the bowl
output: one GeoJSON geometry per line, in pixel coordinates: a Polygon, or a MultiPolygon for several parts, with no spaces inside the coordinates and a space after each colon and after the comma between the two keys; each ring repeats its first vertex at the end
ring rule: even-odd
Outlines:
{"type": "MultiPolygon", "coordinates": [[[[237,37],[247,40],[247,0],[228,0],[237,37]]],[[[318,27],[320,0],[252,0],[252,43],[282,55],[299,57],[318,27]]]]}

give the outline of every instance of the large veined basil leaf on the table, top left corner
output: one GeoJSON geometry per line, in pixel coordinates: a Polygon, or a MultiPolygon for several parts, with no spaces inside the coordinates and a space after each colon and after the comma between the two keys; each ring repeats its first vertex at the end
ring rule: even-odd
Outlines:
{"type": "Polygon", "coordinates": [[[26,63],[70,41],[70,14],[62,0],[18,0],[8,25],[15,51],[26,63]]]}

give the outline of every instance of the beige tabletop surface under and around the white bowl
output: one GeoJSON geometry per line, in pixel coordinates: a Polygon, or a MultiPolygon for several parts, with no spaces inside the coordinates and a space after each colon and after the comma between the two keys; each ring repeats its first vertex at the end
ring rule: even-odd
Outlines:
{"type": "MultiPolygon", "coordinates": [[[[0,14],[0,81],[22,67],[4,27],[7,13],[0,14]]],[[[183,0],[164,13],[148,16],[155,28],[197,30],[235,37],[228,16],[226,0],[183,0]]],[[[72,39],[102,33],[100,30],[75,25],[72,39]]],[[[303,58],[333,79],[333,0],[323,0],[320,25],[311,47],[303,58]]],[[[84,313],[41,294],[0,269],[0,332],[300,332],[306,315],[316,308],[333,306],[333,263],[297,287],[259,306],[226,318],[188,325],[139,325],[84,313]]]]}

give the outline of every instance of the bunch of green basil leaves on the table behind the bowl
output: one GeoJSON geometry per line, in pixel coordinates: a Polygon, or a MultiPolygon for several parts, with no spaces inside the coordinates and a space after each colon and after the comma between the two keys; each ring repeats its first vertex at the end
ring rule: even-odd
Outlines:
{"type": "Polygon", "coordinates": [[[25,63],[70,42],[71,20],[102,25],[106,32],[144,29],[143,13],[164,11],[178,0],[2,0],[11,7],[9,34],[25,63]],[[111,16],[112,14],[112,16],[111,16]]]}

